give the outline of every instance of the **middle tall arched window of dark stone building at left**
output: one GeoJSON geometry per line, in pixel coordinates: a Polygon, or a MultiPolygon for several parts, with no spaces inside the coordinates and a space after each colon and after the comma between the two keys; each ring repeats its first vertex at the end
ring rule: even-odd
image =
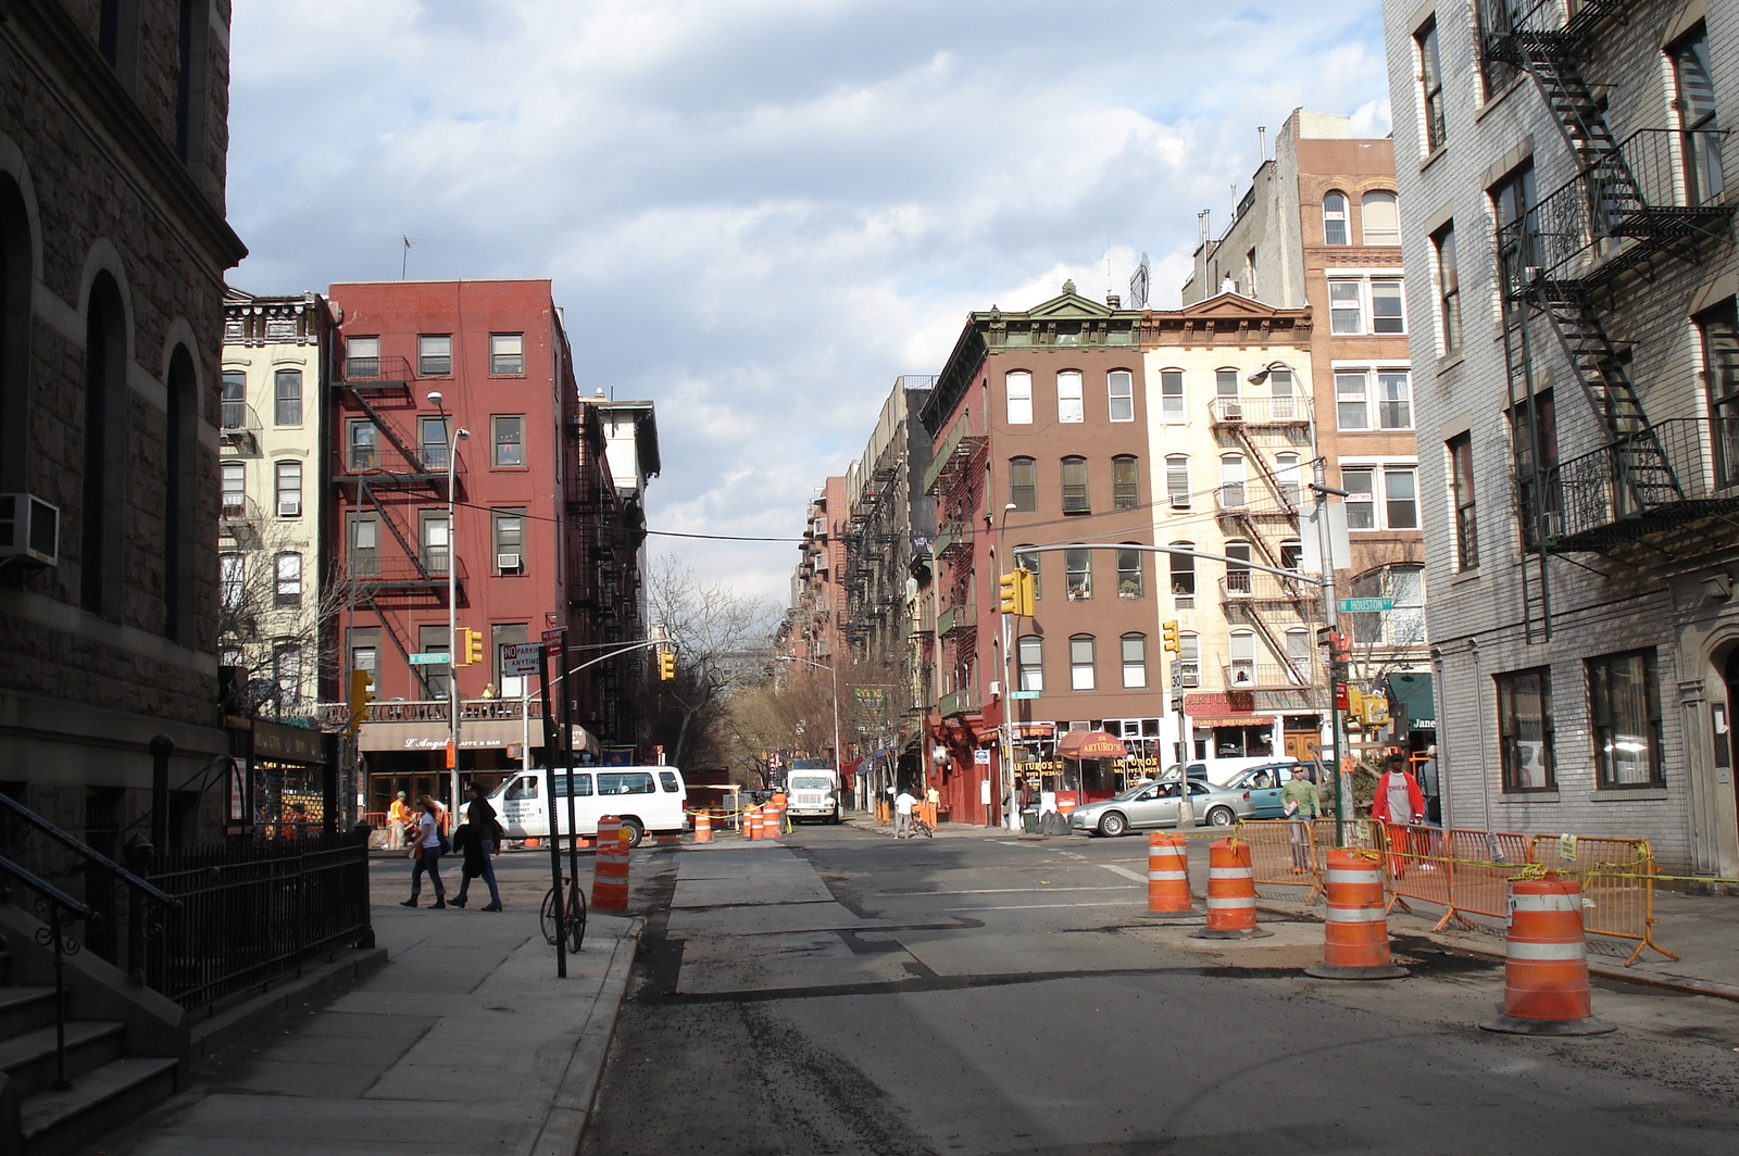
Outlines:
{"type": "Polygon", "coordinates": [[[120,287],[97,275],[85,306],[85,436],[78,601],[120,614],[127,511],[127,315],[120,287]]]}

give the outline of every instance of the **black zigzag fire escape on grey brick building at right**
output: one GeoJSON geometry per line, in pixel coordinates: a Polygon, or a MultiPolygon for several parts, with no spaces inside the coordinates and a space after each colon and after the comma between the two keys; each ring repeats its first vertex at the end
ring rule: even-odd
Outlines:
{"type": "Polygon", "coordinates": [[[1711,447],[1730,431],[1713,417],[1650,422],[1631,375],[1635,348],[1607,318],[1635,299],[1656,261],[1701,261],[1730,240],[1722,202],[1718,130],[1642,129],[1614,137],[1584,76],[1609,16],[1626,0],[1582,0],[1565,19],[1548,0],[1515,12],[1487,0],[1485,54],[1527,71],[1576,155],[1576,174],[1499,229],[1499,290],[1515,501],[1523,528],[1523,619],[1529,641],[1551,636],[1551,555],[1610,553],[1687,522],[1739,509],[1736,478],[1711,447]],[[1715,163],[1704,163],[1713,156],[1715,163]],[[1591,452],[1556,459],[1542,412],[1530,322],[1544,316],[1598,419],[1591,452]]]}

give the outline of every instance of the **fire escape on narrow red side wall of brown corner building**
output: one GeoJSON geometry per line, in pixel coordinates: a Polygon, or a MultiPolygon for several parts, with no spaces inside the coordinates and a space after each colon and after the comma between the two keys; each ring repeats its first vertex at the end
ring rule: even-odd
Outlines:
{"type": "Polygon", "coordinates": [[[948,586],[936,614],[936,640],[943,648],[943,669],[951,673],[956,690],[943,695],[941,714],[965,714],[977,709],[972,685],[972,657],[977,652],[977,601],[972,574],[972,518],[977,513],[977,480],[984,476],[989,438],[972,433],[972,412],[955,421],[925,475],[925,490],[936,494],[937,527],[932,553],[948,565],[948,586]]]}

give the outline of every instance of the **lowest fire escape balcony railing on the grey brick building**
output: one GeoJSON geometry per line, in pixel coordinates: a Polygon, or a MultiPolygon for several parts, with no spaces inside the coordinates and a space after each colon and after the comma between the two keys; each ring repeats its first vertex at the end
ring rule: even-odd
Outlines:
{"type": "MultiPolygon", "coordinates": [[[[1556,509],[1541,511],[1546,549],[1605,549],[1671,530],[1694,518],[1739,511],[1739,417],[1675,417],[1654,424],[1678,492],[1629,476],[1638,457],[1603,445],[1546,471],[1556,509]],[[1638,497],[1642,495],[1642,497],[1638,497]],[[1659,501],[1650,501],[1657,495],[1659,501]]],[[[1534,494],[1522,487],[1522,494],[1534,494]]]]}

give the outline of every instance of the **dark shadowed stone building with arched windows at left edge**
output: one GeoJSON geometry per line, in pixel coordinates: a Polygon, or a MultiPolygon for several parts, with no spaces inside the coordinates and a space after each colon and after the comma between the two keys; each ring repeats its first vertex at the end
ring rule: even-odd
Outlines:
{"type": "Polygon", "coordinates": [[[245,254],[226,12],[0,17],[0,763],[111,855],[150,808],[155,735],[172,838],[223,822],[217,377],[245,254]]]}

